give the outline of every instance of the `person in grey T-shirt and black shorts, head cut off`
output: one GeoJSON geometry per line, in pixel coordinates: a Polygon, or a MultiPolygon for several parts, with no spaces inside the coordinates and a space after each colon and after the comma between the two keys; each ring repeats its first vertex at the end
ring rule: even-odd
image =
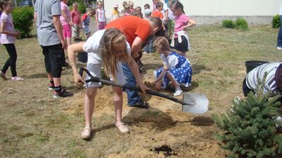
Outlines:
{"type": "Polygon", "coordinates": [[[73,96],[61,86],[62,65],[65,62],[63,49],[67,47],[63,39],[60,22],[60,0],[37,0],[35,2],[35,23],[37,38],[43,49],[45,68],[49,78],[49,89],[55,90],[54,98],[73,96]]]}

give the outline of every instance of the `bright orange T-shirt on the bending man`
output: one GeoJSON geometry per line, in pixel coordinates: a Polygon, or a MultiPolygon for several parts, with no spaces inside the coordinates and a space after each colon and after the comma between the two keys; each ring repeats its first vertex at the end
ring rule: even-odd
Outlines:
{"type": "Polygon", "coordinates": [[[105,29],[109,29],[111,27],[123,32],[130,46],[132,46],[135,37],[140,37],[142,41],[145,41],[145,39],[147,39],[147,37],[151,34],[149,21],[137,16],[125,16],[109,22],[105,29]]]}

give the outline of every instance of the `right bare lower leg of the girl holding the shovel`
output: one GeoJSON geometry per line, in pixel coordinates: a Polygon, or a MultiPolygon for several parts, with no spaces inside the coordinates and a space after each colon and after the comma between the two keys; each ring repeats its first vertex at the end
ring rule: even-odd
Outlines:
{"type": "Polygon", "coordinates": [[[116,113],[116,124],[121,124],[121,117],[123,112],[123,89],[113,86],[114,91],[114,106],[116,113]]]}

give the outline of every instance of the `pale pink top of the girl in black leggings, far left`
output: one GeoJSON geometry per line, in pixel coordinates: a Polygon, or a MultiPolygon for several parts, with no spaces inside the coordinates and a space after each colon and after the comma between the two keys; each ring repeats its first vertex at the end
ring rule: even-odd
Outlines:
{"type": "MultiPolygon", "coordinates": [[[[1,23],[5,22],[5,30],[9,32],[15,32],[15,28],[13,26],[13,18],[11,14],[2,13],[0,18],[1,23]]],[[[8,34],[1,34],[1,44],[13,44],[16,41],[16,37],[8,34]]]]}

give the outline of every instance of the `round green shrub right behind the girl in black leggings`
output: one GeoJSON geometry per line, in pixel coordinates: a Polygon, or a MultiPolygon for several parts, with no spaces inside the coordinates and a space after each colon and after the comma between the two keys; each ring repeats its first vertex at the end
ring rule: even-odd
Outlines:
{"type": "Polygon", "coordinates": [[[33,24],[33,7],[14,8],[11,14],[15,29],[20,32],[18,38],[29,37],[33,24]]]}

